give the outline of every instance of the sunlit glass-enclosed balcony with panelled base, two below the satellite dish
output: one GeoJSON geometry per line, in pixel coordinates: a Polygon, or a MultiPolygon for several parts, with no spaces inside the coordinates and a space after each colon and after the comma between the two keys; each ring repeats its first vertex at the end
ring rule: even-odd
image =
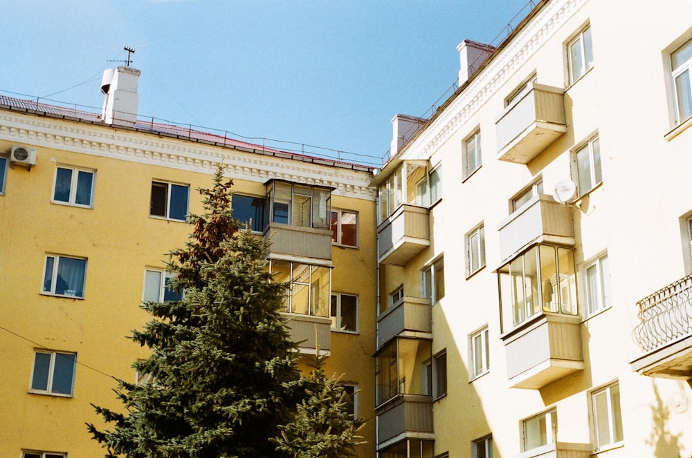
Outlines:
{"type": "Polygon", "coordinates": [[[574,251],[535,245],[498,269],[512,388],[539,389],[584,368],[574,251]]]}

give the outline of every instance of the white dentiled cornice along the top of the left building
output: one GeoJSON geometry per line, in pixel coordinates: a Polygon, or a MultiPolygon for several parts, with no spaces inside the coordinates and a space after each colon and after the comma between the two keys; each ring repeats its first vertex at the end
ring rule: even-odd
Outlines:
{"type": "Polygon", "coordinates": [[[230,178],[253,182],[289,180],[335,188],[337,195],[375,200],[370,188],[372,174],[324,164],[279,158],[233,148],[159,137],[53,117],[0,110],[0,140],[167,166],[199,173],[213,173],[219,162],[230,178]]]}

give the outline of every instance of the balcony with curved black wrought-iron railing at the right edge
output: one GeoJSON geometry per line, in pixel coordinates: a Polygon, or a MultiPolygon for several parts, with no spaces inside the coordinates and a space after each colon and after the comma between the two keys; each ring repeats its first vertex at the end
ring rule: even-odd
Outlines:
{"type": "Polygon", "coordinates": [[[666,379],[692,379],[692,276],[637,302],[639,324],[632,337],[644,354],[632,370],[666,379]]]}

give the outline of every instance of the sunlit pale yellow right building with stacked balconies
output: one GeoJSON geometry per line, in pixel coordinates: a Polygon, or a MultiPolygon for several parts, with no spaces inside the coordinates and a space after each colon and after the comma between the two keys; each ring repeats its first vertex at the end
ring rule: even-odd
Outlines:
{"type": "Polygon", "coordinates": [[[535,5],[394,118],[380,457],[692,455],[692,3],[535,5]]]}

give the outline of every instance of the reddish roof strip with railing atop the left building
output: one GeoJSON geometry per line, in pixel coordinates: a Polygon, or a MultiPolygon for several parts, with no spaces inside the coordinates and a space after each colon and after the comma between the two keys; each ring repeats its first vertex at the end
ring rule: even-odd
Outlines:
{"type": "Polygon", "coordinates": [[[93,113],[91,111],[83,111],[75,108],[70,108],[66,106],[57,106],[51,104],[44,104],[38,100],[26,100],[17,99],[15,97],[8,97],[6,95],[0,95],[0,109],[10,110],[10,111],[21,111],[24,113],[30,113],[33,115],[46,116],[46,117],[57,117],[64,120],[71,120],[76,122],[86,122],[89,124],[96,124],[111,128],[120,128],[125,130],[132,130],[143,133],[152,133],[155,135],[163,137],[178,138],[181,140],[187,140],[190,142],[198,142],[203,144],[210,144],[213,146],[221,146],[224,148],[237,149],[240,151],[246,151],[248,153],[258,153],[264,155],[272,155],[279,158],[300,160],[304,162],[314,162],[318,164],[325,164],[329,166],[337,166],[345,169],[353,169],[360,171],[371,172],[374,166],[355,164],[352,162],[345,162],[340,160],[334,160],[333,158],[319,157],[318,155],[306,155],[302,153],[293,153],[291,151],[284,151],[282,149],[271,148],[264,144],[253,144],[251,142],[244,142],[242,140],[237,140],[235,138],[228,137],[228,135],[219,135],[216,133],[210,133],[206,131],[201,131],[199,129],[194,129],[192,126],[179,126],[176,124],[166,124],[161,122],[136,120],[134,126],[112,126],[107,124],[101,119],[101,115],[98,113],[93,113]]]}

